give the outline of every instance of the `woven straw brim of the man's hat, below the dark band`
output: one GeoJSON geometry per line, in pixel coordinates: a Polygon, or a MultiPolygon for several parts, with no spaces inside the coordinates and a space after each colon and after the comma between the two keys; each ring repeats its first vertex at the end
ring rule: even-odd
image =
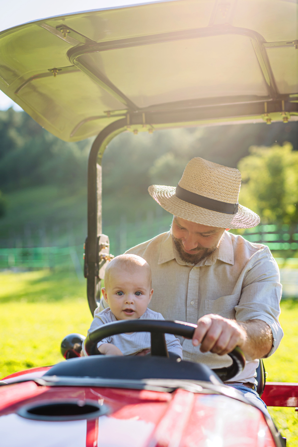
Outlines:
{"type": "Polygon", "coordinates": [[[260,218],[256,213],[240,204],[236,214],[224,214],[178,199],[174,186],[152,185],[149,186],[148,191],[164,210],[196,224],[219,228],[252,228],[260,223],[260,218]]]}

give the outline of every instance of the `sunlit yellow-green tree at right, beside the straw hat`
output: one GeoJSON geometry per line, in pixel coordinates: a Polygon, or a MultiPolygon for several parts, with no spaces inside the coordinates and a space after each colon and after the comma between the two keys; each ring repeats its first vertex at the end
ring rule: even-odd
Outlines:
{"type": "Polygon", "coordinates": [[[239,202],[258,213],[263,224],[297,224],[298,151],[290,143],[249,151],[238,163],[239,202]]]}

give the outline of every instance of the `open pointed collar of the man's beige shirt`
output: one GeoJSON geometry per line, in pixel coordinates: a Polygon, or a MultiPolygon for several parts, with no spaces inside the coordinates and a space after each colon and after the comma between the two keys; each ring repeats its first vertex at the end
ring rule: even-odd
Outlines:
{"type": "MultiPolygon", "coordinates": [[[[190,265],[190,266],[192,265],[188,262],[182,261],[179,258],[179,255],[173,244],[171,233],[170,231],[168,231],[163,236],[157,264],[158,265],[163,264],[164,262],[171,261],[172,259],[176,259],[176,261],[180,265],[190,265]]],[[[219,248],[214,253],[212,253],[211,256],[199,262],[197,266],[213,265],[216,263],[217,259],[227,264],[234,265],[234,252],[233,252],[232,240],[230,234],[227,231],[224,231],[224,237],[222,239],[219,248]]]]}

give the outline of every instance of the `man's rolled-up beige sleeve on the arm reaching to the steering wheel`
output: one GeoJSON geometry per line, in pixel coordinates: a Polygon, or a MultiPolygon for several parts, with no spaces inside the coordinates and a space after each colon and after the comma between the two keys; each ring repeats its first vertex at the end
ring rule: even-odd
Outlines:
{"type": "Polygon", "coordinates": [[[268,247],[252,259],[249,267],[239,303],[235,306],[236,320],[258,319],[270,326],[273,346],[269,357],[276,351],[284,335],[278,320],[282,296],[279,268],[268,247]]]}

